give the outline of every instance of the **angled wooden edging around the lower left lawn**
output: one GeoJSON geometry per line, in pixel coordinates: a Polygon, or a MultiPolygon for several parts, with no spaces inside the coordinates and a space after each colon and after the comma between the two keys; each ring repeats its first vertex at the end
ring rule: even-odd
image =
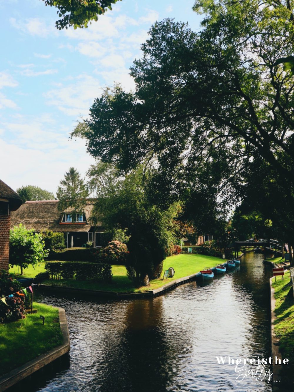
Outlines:
{"type": "Polygon", "coordinates": [[[9,373],[4,374],[0,377],[0,392],[5,391],[7,388],[12,387],[14,384],[22,381],[25,377],[30,376],[37,370],[41,369],[45,365],[48,365],[55,359],[68,353],[70,350],[70,339],[69,339],[69,327],[67,325],[67,319],[65,316],[65,310],[58,308],[59,310],[59,321],[60,329],[63,337],[63,343],[60,346],[52,348],[49,352],[41,354],[35,359],[25,363],[24,365],[11,370],[9,373]]]}

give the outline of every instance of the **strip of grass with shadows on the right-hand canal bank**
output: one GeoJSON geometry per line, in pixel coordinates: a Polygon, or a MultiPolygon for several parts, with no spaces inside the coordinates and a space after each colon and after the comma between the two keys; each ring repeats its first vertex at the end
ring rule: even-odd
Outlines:
{"type": "Polygon", "coordinates": [[[272,281],[274,296],[276,298],[276,320],[274,332],[280,338],[279,350],[282,358],[288,358],[289,363],[294,363],[294,300],[292,292],[289,293],[290,272],[285,271],[284,280],[277,276],[277,281],[272,281]]]}

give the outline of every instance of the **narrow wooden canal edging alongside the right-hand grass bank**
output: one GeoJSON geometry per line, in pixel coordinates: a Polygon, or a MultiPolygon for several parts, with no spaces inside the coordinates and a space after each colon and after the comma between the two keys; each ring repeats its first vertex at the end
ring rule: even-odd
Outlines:
{"type": "MultiPolygon", "coordinates": [[[[272,287],[272,279],[274,279],[274,276],[269,279],[269,285],[270,285],[270,295],[271,295],[271,352],[272,352],[272,358],[279,358],[282,361],[281,354],[279,352],[279,339],[276,337],[276,334],[274,333],[274,321],[276,320],[276,314],[274,312],[275,305],[276,305],[276,299],[274,298],[274,288],[272,287]]],[[[279,384],[281,380],[281,369],[282,365],[276,365],[273,363],[272,365],[272,390],[273,391],[280,391],[279,384]]]]}

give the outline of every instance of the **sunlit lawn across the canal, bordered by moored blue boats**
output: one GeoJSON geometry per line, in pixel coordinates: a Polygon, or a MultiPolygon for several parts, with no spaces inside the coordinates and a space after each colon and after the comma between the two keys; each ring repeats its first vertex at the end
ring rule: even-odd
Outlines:
{"type": "MultiPolygon", "coordinates": [[[[173,278],[154,279],[150,281],[150,287],[140,287],[135,289],[132,281],[126,275],[126,268],[123,265],[112,265],[112,282],[111,283],[96,283],[94,281],[78,281],[75,279],[49,279],[44,281],[44,284],[58,285],[64,287],[73,287],[77,289],[88,290],[106,290],[117,292],[142,292],[146,290],[158,289],[166,283],[173,281],[183,276],[188,276],[199,272],[205,267],[215,267],[223,260],[213,256],[205,256],[202,254],[179,254],[177,256],[170,256],[164,260],[163,269],[173,267],[175,275],[173,278]]],[[[43,272],[38,271],[38,272],[43,272]]],[[[24,276],[27,276],[26,270],[24,276]]]]}

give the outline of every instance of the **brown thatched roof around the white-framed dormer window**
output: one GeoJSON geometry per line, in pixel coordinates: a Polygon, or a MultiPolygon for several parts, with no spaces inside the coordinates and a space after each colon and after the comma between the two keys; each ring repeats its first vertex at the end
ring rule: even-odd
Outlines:
{"type": "MultiPolygon", "coordinates": [[[[92,227],[89,222],[89,217],[93,209],[92,202],[88,202],[83,209],[87,220],[87,223],[83,224],[60,223],[63,213],[58,211],[57,207],[58,200],[26,201],[17,211],[11,214],[11,227],[23,223],[27,229],[34,229],[37,232],[47,229],[60,232],[88,232],[92,227]]],[[[66,212],[71,211],[67,210],[66,212]]]]}

